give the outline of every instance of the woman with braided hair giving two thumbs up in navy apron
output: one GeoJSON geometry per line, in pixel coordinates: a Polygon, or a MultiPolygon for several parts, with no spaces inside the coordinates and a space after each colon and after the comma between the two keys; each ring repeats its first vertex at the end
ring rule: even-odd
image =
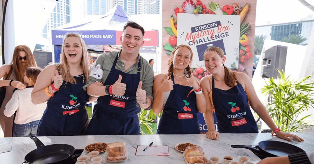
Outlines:
{"type": "Polygon", "coordinates": [[[157,134],[200,133],[197,113],[206,111],[206,101],[189,65],[193,53],[179,45],[171,53],[168,74],[158,74],[153,85],[153,112],[163,111],[157,134]]]}

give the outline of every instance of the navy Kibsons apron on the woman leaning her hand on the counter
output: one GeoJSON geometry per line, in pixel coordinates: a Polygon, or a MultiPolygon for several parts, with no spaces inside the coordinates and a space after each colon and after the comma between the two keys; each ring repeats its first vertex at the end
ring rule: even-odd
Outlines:
{"type": "Polygon", "coordinates": [[[215,88],[212,77],[213,104],[219,133],[258,133],[257,123],[250,110],[242,85],[222,90],[215,88]]]}

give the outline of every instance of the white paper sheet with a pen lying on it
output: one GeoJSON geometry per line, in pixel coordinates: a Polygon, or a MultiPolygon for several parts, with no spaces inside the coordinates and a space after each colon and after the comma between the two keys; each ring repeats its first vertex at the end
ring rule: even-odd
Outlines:
{"type": "Polygon", "coordinates": [[[143,151],[147,146],[138,146],[136,148],[136,156],[169,156],[168,146],[150,146],[143,151]]]}

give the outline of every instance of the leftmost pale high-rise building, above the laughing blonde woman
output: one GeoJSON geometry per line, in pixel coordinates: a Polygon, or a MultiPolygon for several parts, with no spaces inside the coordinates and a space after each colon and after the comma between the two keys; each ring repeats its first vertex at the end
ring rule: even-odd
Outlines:
{"type": "Polygon", "coordinates": [[[59,0],[56,3],[56,7],[53,9],[51,16],[42,31],[42,36],[45,38],[51,37],[51,29],[71,21],[70,0],[59,0]]]}

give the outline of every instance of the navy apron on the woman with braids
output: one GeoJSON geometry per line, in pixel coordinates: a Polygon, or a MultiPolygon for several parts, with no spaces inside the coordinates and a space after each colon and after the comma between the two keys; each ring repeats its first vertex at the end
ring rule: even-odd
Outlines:
{"type": "MultiPolygon", "coordinates": [[[[173,75],[171,75],[174,83],[173,75]]],[[[192,87],[174,84],[159,120],[157,134],[201,133],[196,94],[192,87]],[[192,91],[192,92],[191,92],[192,91]]]]}

